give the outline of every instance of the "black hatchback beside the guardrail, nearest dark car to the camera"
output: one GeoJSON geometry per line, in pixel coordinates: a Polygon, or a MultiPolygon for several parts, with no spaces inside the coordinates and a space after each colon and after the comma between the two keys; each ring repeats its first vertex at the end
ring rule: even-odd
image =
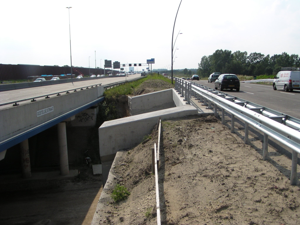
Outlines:
{"type": "Polygon", "coordinates": [[[235,74],[221,74],[214,82],[214,88],[216,90],[220,88],[220,91],[223,89],[240,91],[240,81],[235,74]]]}

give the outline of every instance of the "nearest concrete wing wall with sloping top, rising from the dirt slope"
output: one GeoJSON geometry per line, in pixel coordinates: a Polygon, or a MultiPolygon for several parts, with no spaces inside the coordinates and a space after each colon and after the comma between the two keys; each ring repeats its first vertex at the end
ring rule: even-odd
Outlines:
{"type": "Polygon", "coordinates": [[[195,114],[198,114],[195,107],[185,105],[106,121],[99,128],[101,161],[111,161],[118,150],[132,148],[141,143],[143,137],[150,134],[153,126],[157,124],[158,117],[164,120],[195,114]]]}

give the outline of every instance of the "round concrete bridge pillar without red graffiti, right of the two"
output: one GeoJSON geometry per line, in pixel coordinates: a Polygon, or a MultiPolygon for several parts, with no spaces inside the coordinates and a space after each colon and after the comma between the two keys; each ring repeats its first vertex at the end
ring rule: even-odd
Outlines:
{"type": "Polygon", "coordinates": [[[57,124],[57,132],[58,132],[60,174],[67,175],[69,173],[69,161],[68,161],[67,132],[66,132],[65,122],[61,122],[57,124]]]}

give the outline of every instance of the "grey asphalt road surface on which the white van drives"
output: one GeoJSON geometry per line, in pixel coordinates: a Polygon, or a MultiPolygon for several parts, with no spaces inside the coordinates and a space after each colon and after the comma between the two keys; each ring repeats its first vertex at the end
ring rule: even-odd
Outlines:
{"type": "MultiPolygon", "coordinates": [[[[214,88],[214,82],[208,83],[207,80],[193,80],[193,82],[214,88]]],[[[285,92],[279,89],[274,91],[271,85],[241,83],[240,91],[225,89],[223,92],[300,119],[300,91],[285,92]]]]}

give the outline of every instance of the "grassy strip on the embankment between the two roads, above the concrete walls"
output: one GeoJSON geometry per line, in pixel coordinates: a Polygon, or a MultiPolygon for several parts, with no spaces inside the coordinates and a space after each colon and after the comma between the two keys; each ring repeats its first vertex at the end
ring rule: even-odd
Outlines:
{"type": "Polygon", "coordinates": [[[153,75],[148,75],[137,81],[125,83],[124,85],[119,85],[119,86],[107,89],[106,91],[104,91],[104,96],[106,99],[113,99],[113,98],[118,98],[120,95],[131,95],[134,93],[135,88],[137,88],[139,85],[141,85],[141,83],[143,83],[149,79],[161,79],[161,80],[171,83],[170,79],[164,77],[163,75],[158,75],[157,73],[154,73],[153,75]]]}

